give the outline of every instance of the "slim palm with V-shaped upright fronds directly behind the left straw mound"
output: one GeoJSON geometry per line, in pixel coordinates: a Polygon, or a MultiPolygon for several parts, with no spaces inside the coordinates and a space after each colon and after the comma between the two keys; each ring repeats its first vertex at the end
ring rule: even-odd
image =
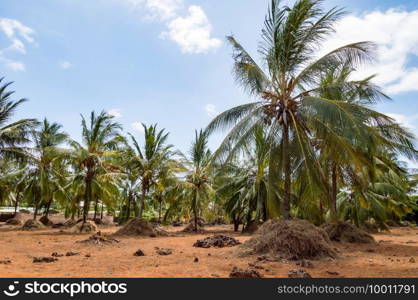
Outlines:
{"type": "Polygon", "coordinates": [[[133,146],[128,147],[130,153],[128,164],[131,169],[137,172],[141,181],[139,218],[143,216],[146,197],[174,154],[171,150],[173,146],[167,145],[169,133],[166,133],[165,129],[157,131],[157,124],[151,126],[142,124],[142,126],[144,128],[144,147],[141,148],[137,139],[131,134],[133,146]]]}

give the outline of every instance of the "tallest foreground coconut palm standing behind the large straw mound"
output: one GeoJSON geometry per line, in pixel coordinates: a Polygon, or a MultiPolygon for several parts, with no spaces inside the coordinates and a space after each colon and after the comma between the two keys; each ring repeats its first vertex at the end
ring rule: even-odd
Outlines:
{"type": "MultiPolygon", "coordinates": [[[[350,124],[358,138],[366,140],[364,123],[355,117],[358,111],[362,112],[361,121],[367,116],[370,122],[382,126],[389,118],[363,109],[358,103],[321,97],[324,91],[335,88],[344,88],[347,92],[361,89],[375,100],[385,97],[368,81],[319,84],[322,71],[330,65],[347,64],[354,68],[373,60],[374,45],[370,42],[352,43],[319,56],[320,43],[334,31],[333,24],[344,11],[337,8],[324,11],[322,1],[298,0],[293,7],[281,6],[281,2],[271,1],[265,19],[259,51],[261,64],[233,36],[228,37],[234,49],[236,81],[257,101],[221,113],[209,124],[208,131],[233,127],[217,151],[222,153],[231,142],[242,143],[249,138],[249,133],[257,127],[267,128],[270,141],[268,207],[280,202],[283,218],[289,219],[295,159],[303,157],[309,180],[321,181],[326,186],[311,143],[313,129],[322,127],[332,133],[332,127],[323,125],[323,120],[331,115],[335,124],[342,121],[350,124]],[[280,201],[277,190],[282,180],[280,201]]],[[[268,213],[269,217],[277,216],[277,211],[272,209],[268,213]]]]}

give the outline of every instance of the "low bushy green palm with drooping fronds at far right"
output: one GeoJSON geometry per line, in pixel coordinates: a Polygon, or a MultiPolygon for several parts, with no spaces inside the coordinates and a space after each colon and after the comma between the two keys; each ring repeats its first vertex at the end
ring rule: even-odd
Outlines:
{"type": "Polygon", "coordinates": [[[357,226],[373,220],[385,228],[388,220],[417,210],[409,195],[411,182],[405,164],[397,161],[392,153],[381,153],[373,158],[373,178],[346,177],[346,185],[338,194],[337,206],[340,218],[357,226]]]}

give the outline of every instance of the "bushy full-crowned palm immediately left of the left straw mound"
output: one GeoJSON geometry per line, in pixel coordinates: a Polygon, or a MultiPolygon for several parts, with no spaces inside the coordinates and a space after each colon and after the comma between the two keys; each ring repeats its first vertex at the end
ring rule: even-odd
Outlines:
{"type": "Polygon", "coordinates": [[[124,139],[120,135],[121,125],[104,111],[91,112],[89,121],[83,115],[81,119],[82,144],[71,142],[75,169],[72,185],[76,187],[75,194],[84,194],[84,225],[93,201],[111,200],[119,192],[120,169],[112,163],[112,158],[119,155],[124,139]]]}

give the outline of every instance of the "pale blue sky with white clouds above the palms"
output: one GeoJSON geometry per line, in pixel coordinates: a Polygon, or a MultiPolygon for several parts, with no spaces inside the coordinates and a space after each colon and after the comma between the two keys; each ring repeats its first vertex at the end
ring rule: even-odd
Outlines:
{"type": "MultiPolygon", "coordinates": [[[[106,110],[125,131],[158,123],[187,150],[194,129],[249,100],[231,76],[236,38],[256,57],[269,0],[1,0],[0,76],[26,97],[21,117],[47,117],[79,138],[80,113],[106,110]]],[[[418,2],[325,1],[352,14],[326,49],[375,40],[370,74],[394,99],[382,112],[418,133],[418,2]]],[[[363,73],[362,73],[363,74],[363,73]]],[[[214,147],[219,137],[214,137],[214,147]]]]}

